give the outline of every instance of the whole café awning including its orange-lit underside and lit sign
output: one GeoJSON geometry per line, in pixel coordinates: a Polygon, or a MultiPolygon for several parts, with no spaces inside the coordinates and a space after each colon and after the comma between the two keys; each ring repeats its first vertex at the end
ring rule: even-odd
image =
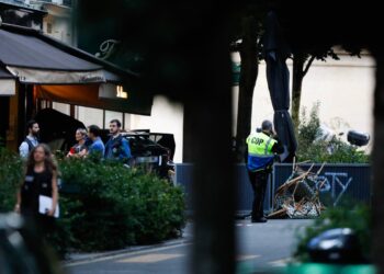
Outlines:
{"type": "MultiPolygon", "coordinates": [[[[34,84],[41,99],[150,115],[151,96],[134,89],[137,75],[36,30],[0,26],[0,81],[34,84]],[[129,95],[121,96],[123,90],[129,95]]],[[[0,94],[2,85],[0,82],[0,94]]],[[[14,89],[8,94],[14,94],[14,89]]]]}

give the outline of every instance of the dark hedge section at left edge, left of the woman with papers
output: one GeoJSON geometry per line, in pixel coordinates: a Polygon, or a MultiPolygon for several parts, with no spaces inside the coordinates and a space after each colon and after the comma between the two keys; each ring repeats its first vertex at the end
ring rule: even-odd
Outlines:
{"type": "Polygon", "coordinates": [[[0,147],[0,212],[12,210],[23,169],[19,155],[0,147]]]}

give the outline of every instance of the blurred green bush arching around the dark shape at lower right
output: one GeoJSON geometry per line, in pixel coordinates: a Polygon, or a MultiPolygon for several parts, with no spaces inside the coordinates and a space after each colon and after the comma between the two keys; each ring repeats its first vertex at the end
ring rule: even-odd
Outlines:
{"type": "Polygon", "coordinates": [[[314,221],[314,225],[305,229],[304,233],[297,235],[298,244],[294,252],[294,258],[301,262],[308,262],[309,256],[306,247],[312,238],[331,228],[351,228],[359,238],[363,255],[369,259],[371,250],[371,207],[363,204],[328,208],[314,221]]]}

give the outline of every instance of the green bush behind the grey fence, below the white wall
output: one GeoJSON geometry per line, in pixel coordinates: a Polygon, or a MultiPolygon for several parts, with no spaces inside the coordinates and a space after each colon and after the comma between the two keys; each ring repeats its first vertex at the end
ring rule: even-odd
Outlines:
{"type": "Polygon", "coordinates": [[[318,138],[321,135],[320,121],[318,117],[319,104],[315,104],[306,117],[305,109],[302,112],[301,124],[297,134],[297,160],[310,160],[313,162],[343,162],[366,163],[369,156],[357,147],[332,137],[330,140],[318,138]]]}

